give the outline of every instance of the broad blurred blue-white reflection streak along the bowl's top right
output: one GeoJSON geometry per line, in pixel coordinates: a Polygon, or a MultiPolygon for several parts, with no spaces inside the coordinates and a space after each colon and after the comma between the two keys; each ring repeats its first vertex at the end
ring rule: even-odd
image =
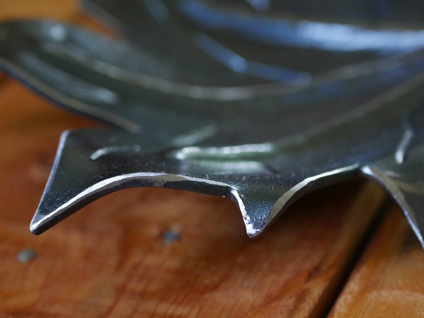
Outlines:
{"type": "Polygon", "coordinates": [[[201,26],[273,45],[324,50],[412,51],[424,47],[424,30],[365,29],[340,23],[276,19],[230,11],[199,0],[180,1],[182,13],[201,26]]]}

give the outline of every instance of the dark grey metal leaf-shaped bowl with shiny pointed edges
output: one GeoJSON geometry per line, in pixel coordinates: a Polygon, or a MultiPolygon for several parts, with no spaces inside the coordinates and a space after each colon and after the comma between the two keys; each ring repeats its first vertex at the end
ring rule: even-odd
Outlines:
{"type": "Polygon", "coordinates": [[[230,4],[84,1],[125,40],[51,21],[0,25],[3,70],[123,128],[64,132],[31,231],[116,190],[166,187],[231,198],[257,237],[304,194],[365,176],[424,244],[424,31],[230,4]]]}

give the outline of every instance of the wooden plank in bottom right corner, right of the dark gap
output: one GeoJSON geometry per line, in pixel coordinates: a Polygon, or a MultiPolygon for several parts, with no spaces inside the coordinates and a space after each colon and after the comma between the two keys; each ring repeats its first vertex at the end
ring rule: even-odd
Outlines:
{"type": "Polygon", "coordinates": [[[330,317],[424,317],[424,253],[399,209],[391,208],[330,317]]]}

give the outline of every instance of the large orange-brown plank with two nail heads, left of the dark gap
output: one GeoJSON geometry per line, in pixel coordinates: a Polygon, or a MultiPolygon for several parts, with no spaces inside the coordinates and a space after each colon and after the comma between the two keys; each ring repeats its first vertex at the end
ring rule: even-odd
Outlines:
{"type": "Polygon", "coordinates": [[[28,224],[57,130],[61,123],[85,124],[67,117],[58,113],[54,123],[9,127],[1,134],[2,148],[17,140],[0,166],[4,315],[308,317],[330,299],[322,295],[331,294],[346,270],[382,198],[368,183],[315,192],[250,240],[229,200],[128,189],[34,237],[28,224]],[[162,233],[171,227],[179,229],[180,239],[164,244],[162,233]],[[18,262],[17,253],[29,247],[37,257],[18,262]]]}

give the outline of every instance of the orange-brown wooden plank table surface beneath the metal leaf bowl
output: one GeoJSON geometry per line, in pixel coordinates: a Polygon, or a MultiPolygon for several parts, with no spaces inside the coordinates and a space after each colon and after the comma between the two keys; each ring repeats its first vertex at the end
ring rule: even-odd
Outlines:
{"type": "MultiPolygon", "coordinates": [[[[23,17],[104,31],[70,0],[0,2],[23,17]]],[[[307,195],[257,240],[229,199],[153,188],[33,236],[61,131],[99,125],[4,74],[0,109],[0,317],[424,317],[424,253],[368,181],[307,195]]]]}

